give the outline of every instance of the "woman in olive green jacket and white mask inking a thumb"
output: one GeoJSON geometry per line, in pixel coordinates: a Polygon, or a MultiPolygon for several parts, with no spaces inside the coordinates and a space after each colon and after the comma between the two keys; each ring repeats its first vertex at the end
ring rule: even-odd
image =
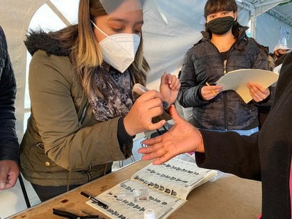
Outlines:
{"type": "Polygon", "coordinates": [[[101,2],[81,0],[79,24],[31,32],[25,42],[31,117],[20,165],[42,201],[111,172],[113,161],[131,155],[136,133],[165,124],[152,123],[162,102],[177,98],[180,83],[170,74],[161,76],[161,92],[133,95],[149,71],[140,1],[113,1],[113,11],[101,2]]]}

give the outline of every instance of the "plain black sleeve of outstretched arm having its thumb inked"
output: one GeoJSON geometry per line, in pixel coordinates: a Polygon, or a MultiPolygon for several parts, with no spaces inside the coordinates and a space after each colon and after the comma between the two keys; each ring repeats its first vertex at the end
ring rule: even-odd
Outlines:
{"type": "Polygon", "coordinates": [[[261,180],[258,133],[240,136],[238,133],[200,130],[205,153],[195,153],[197,165],[229,172],[246,179],[261,180]]]}

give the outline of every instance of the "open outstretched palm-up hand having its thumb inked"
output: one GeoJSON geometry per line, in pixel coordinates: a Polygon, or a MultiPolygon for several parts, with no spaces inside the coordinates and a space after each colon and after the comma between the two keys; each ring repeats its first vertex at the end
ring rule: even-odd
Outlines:
{"type": "Polygon", "coordinates": [[[138,149],[138,153],[144,154],[143,160],[155,159],[154,165],[169,161],[185,152],[204,152],[200,131],[181,118],[173,105],[170,107],[170,115],[175,122],[170,130],[156,138],[143,140],[142,143],[147,147],[138,149]]]}

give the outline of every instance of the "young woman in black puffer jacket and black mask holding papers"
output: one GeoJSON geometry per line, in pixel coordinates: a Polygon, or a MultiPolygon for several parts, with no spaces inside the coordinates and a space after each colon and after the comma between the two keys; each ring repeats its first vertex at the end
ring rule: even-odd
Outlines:
{"type": "Polygon", "coordinates": [[[193,124],[198,128],[250,135],[259,130],[258,107],[272,104],[273,90],[251,81],[247,86],[253,99],[245,104],[236,92],[222,91],[214,83],[232,70],[268,70],[268,51],[238,24],[236,1],[206,1],[204,17],[203,38],[184,57],[178,101],[193,107],[193,124]]]}

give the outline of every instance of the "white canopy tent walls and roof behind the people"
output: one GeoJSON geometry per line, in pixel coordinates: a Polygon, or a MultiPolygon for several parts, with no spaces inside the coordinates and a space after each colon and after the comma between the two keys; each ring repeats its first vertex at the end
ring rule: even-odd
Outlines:
{"type": "MultiPolygon", "coordinates": [[[[154,0],[151,0],[154,1],[154,0]]],[[[17,135],[21,140],[29,113],[27,72],[29,54],[23,41],[27,30],[41,27],[56,31],[77,22],[79,0],[0,0],[0,25],[6,33],[10,58],[17,79],[17,135]]],[[[204,29],[206,0],[156,0],[168,24],[157,22],[161,17],[148,10],[145,13],[143,37],[145,56],[151,72],[149,88],[158,89],[164,71],[177,74],[186,51],[201,38],[204,29]]],[[[273,51],[279,41],[292,47],[292,1],[238,0],[240,24],[250,26],[250,35],[273,51]]],[[[1,193],[0,193],[1,195],[1,193]]],[[[0,198],[1,200],[2,197],[0,198]]],[[[1,215],[0,217],[4,217],[1,215]]]]}

